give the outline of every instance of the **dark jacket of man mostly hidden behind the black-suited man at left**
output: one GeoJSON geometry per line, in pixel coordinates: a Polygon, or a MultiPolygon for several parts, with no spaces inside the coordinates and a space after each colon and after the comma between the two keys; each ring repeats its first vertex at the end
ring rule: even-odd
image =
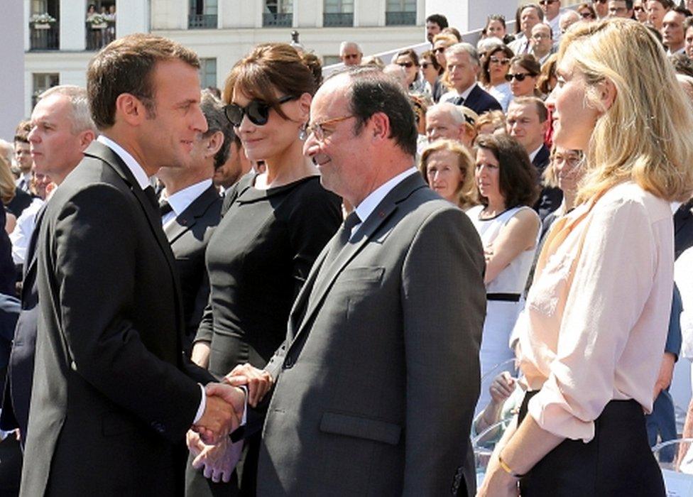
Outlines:
{"type": "Polygon", "coordinates": [[[204,267],[204,252],[214,228],[219,224],[222,197],[209,185],[173,222],[166,224],[164,233],[171,245],[178,268],[182,291],[185,335],[183,349],[190,352],[192,339],[202,320],[209,298],[209,278],[204,267]]]}

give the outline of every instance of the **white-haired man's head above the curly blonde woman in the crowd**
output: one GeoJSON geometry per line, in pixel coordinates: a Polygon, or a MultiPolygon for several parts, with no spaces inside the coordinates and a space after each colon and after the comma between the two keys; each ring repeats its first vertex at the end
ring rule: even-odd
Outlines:
{"type": "Polygon", "coordinates": [[[429,143],[447,138],[471,148],[476,138],[476,119],[479,116],[463,106],[449,102],[435,104],[426,112],[426,136],[429,143]]]}

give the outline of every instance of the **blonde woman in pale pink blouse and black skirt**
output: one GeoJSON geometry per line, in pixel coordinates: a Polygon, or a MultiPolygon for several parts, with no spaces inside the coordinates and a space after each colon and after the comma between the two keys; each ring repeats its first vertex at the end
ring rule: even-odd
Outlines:
{"type": "Polygon", "coordinates": [[[479,495],[664,496],[643,412],[671,309],[669,202],[693,190],[693,112],[640,23],[568,31],[557,75],[554,141],[584,151],[586,175],[515,328],[528,392],[479,495]]]}

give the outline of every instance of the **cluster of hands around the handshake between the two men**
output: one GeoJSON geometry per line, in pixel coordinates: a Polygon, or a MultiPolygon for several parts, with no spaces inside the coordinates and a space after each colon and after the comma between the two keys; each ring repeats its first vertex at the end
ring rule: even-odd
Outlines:
{"type": "Polygon", "coordinates": [[[204,414],[187,432],[187,447],[195,457],[192,466],[202,468],[206,478],[215,482],[231,479],[241,457],[243,440],[232,443],[228,435],[241,425],[246,400],[256,407],[271,387],[272,377],[267,371],[243,364],[227,374],[222,383],[209,383],[204,388],[204,414]]]}

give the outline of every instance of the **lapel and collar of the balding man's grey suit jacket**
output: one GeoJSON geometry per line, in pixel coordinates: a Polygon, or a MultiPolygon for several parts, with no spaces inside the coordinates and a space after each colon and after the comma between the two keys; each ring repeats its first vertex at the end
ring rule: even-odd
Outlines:
{"type": "MultiPolygon", "coordinates": [[[[361,249],[364,248],[366,243],[373,237],[373,234],[378,231],[386,221],[391,217],[391,214],[397,209],[397,204],[402,202],[407,197],[409,197],[415,190],[419,188],[426,187],[425,182],[422,180],[421,176],[414,173],[407,178],[405,178],[399,185],[396,185],[391,192],[386,195],[386,197],[378,204],[378,207],[371,212],[371,215],[366,219],[359,229],[352,234],[349,243],[344,246],[344,249],[339,252],[336,258],[333,259],[332,263],[328,266],[322,267],[324,263],[324,258],[327,255],[327,249],[322,253],[321,267],[317,271],[311,271],[310,276],[313,277],[311,285],[308,285],[308,281],[304,285],[303,291],[299,295],[299,298],[303,300],[307,299],[307,305],[305,315],[298,326],[298,332],[295,337],[303,332],[306,324],[310,322],[312,316],[322,305],[325,296],[327,295],[334,280],[337,279],[346,265],[356,256],[361,249]]],[[[339,235],[339,231],[337,235],[339,235]]],[[[329,241],[327,246],[332,246],[332,241],[329,241]]],[[[317,263],[315,264],[317,266],[317,263]]],[[[309,276],[309,280],[310,280],[309,276]]],[[[297,299],[298,304],[298,299],[297,299]]]]}

